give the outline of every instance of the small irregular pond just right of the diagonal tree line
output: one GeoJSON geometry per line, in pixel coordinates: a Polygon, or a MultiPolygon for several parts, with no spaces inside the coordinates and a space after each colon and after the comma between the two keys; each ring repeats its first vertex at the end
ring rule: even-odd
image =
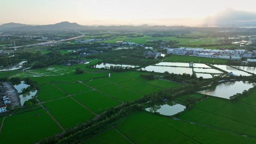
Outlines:
{"type": "Polygon", "coordinates": [[[150,111],[152,113],[160,113],[165,116],[172,116],[174,114],[177,114],[181,111],[184,111],[186,107],[181,104],[177,104],[175,102],[166,102],[162,105],[153,105],[152,107],[146,108],[146,111],[150,111]]]}

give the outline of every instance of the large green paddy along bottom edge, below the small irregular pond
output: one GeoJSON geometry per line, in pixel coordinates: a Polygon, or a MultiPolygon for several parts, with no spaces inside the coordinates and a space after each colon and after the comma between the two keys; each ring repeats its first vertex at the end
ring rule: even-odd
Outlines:
{"type": "Polygon", "coordinates": [[[146,112],[131,114],[116,128],[136,144],[246,144],[251,139],[146,112]]]}

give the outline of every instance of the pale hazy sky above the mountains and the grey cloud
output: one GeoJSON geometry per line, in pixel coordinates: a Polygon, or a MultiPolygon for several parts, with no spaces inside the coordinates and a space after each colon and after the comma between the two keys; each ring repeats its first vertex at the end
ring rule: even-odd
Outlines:
{"type": "Polygon", "coordinates": [[[256,0],[0,0],[0,24],[192,25],[226,9],[256,11],[256,0]]]}

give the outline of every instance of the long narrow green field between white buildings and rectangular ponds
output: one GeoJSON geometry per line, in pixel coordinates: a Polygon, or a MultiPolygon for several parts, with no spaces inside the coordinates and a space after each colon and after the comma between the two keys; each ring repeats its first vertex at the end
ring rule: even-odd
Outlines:
{"type": "Polygon", "coordinates": [[[171,55],[164,60],[165,62],[194,62],[194,63],[227,63],[227,59],[203,58],[198,56],[171,55]]]}

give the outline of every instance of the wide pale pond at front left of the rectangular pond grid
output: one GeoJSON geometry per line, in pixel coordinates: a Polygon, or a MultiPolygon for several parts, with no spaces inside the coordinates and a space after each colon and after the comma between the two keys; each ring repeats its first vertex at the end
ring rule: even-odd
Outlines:
{"type": "Polygon", "coordinates": [[[168,71],[169,73],[174,74],[192,74],[192,68],[189,67],[168,67],[168,66],[155,66],[155,65],[149,65],[147,67],[141,68],[141,70],[146,71],[155,71],[157,73],[164,73],[165,71],[168,71]]]}

